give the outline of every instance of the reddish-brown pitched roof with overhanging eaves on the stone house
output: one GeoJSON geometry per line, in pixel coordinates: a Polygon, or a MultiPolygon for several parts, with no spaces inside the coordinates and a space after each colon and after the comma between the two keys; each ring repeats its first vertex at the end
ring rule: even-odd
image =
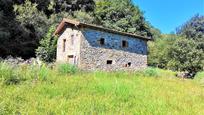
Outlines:
{"type": "Polygon", "coordinates": [[[127,33],[127,32],[120,32],[120,31],[116,31],[116,30],[113,30],[113,29],[103,28],[103,27],[100,27],[100,26],[97,26],[97,25],[82,23],[82,22],[79,22],[79,21],[76,21],[76,20],[70,20],[70,19],[66,19],[66,18],[64,18],[61,21],[61,23],[58,25],[54,35],[59,34],[65,28],[66,24],[74,25],[74,26],[76,26],[78,28],[87,27],[87,28],[93,28],[93,29],[97,29],[97,30],[106,31],[106,32],[109,32],[109,33],[115,33],[115,34],[120,34],[120,35],[124,35],[124,36],[139,38],[139,39],[143,39],[143,40],[151,40],[151,38],[148,38],[148,37],[135,35],[135,34],[127,33]]]}

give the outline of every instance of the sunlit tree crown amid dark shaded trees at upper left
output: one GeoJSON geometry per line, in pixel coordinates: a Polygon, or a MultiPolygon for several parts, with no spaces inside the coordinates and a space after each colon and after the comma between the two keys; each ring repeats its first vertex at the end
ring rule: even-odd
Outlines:
{"type": "Polygon", "coordinates": [[[25,29],[31,30],[39,40],[47,31],[49,20],[47,16],[37,9],[37,4],[26,0],[24,4],[14,5],[16,19],[21,22],[25,29]]]}

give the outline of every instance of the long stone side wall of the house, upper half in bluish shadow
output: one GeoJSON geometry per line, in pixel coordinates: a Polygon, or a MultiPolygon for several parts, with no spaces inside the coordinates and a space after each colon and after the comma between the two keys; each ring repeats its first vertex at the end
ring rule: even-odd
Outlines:
{"type": "Polygon", "coordinates": [[[84,28],[80,57],[80,68],[86,70],[138,70],[147,67],[147,42],[84,28]],[[101,38],[105,39],[104,45],[99,44],[101,38]],[[128,42],[128,47],[122,47],[122,40],[128,42]]]}

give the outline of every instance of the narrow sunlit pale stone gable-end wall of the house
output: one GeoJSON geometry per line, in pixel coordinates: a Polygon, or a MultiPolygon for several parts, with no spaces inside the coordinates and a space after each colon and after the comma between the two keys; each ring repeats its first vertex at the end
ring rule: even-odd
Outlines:
{"type": "Polygon", "coordinates": [[[67,27],[57,42],[57,62],[78,65],[80,58],[81,31],[67,27]],[[65,40],[65,44],[64,44],[65,40]],[[65,45],[65,50],[64,50],[65,45]],[[64,50],[64,51],[63,51],[64,50]]]}

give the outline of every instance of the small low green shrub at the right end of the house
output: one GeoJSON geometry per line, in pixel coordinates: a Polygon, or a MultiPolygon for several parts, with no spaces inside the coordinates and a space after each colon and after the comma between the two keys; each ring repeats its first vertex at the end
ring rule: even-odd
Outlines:
{"type": "Polygon", "coordinates": [[[144,75],[147,77],[158,77],[159,72],[156,68],[149,67],[144,70],[144,75]]]}

